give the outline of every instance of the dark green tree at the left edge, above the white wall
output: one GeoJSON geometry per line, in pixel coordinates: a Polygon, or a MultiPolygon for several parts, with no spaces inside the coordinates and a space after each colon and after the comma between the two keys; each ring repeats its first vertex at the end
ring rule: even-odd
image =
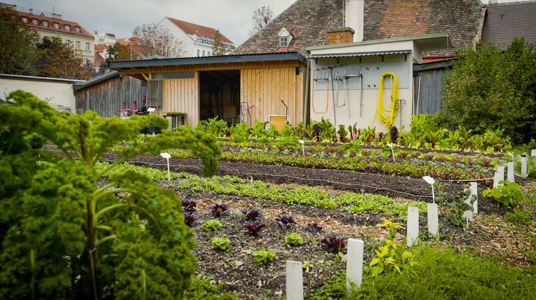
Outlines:
{"type": "Polygon", "coordinates": [[[35,75],[39,51],[37,34],[24,25],[13,10],[0,6],[0,73],[35,75]]]}

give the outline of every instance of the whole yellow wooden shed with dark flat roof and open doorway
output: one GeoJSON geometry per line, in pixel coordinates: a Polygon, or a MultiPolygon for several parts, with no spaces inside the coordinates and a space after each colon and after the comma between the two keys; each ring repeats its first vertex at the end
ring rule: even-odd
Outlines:
{"type": "Polygon", "coordinates": [[[297,125],[305,61],[298,52],[276,52],[122,61],[110,68],[146,81],[147,106],[156,114],[183,112],[193,126],[216,116],[229,124],[287,116],[297,125]]]}

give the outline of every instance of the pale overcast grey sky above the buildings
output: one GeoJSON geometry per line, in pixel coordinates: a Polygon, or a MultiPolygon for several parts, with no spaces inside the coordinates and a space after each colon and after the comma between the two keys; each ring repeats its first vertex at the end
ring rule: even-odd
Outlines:
{"type": "MultiPolygon", "coordinates": [[[[251,15],[256,8],[270,5],[275,15],[296,0],[0,0],[19,7],[63,14],[87,31],[109,32],[117,38],[132,34],[137,25],[158,23],[163,17],[219,29],[237,45],[248,37],[251,15]]],[[[367,1],[367,0],[365,0],[367,1]]],[[[448,1],[448,0],[445,0],[448,1]]],[[[511,2],[515,0],[499,0],[511,2]]],[[[487,3],[488,0],[483,0],[487,3]]]]}

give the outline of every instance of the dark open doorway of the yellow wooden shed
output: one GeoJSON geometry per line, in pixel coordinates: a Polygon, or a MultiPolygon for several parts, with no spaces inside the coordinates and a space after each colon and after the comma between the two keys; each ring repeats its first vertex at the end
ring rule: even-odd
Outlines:
{"type": "Polygon", "coordinates": [[[200,120],[240,122],[240,70],[199,72],[200,120]]]}

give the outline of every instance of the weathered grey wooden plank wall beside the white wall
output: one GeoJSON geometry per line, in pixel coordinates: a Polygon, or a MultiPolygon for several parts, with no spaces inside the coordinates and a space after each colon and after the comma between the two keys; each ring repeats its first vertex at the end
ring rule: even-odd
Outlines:
{"type": "Polygon", "coordinates": [[[142,82],[132,76],[116,76],[75,91],[76,110],[92,110],[99,116],[111,117],[117,109],[121,109],[123,101],[127,109],[134,101],[141,107],[146,92],[142,82]]]}

